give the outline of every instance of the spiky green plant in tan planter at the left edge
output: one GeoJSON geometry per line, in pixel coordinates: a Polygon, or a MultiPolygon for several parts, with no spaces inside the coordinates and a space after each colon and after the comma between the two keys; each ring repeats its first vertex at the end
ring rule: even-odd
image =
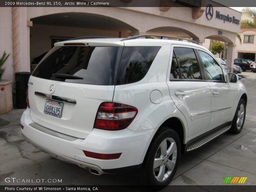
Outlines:
{"type": "Polygon", "coordinates": [[[10,56],[4,51],[0,58],[0,114],[8,113],[13,108],[12,103],[12,81],[2,79],[5,68],[3,65],[10,56]]]}

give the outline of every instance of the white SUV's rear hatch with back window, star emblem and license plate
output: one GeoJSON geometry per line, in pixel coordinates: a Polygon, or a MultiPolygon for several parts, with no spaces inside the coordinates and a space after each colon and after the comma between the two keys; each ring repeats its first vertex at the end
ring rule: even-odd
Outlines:
{"type": "Polygon", "coordinates": [[[113,100],[124,45],[101,39],[64,43],[45,55],[29,79],[31,118],[54,131],[86,138],[100,103],[113,100]]]}

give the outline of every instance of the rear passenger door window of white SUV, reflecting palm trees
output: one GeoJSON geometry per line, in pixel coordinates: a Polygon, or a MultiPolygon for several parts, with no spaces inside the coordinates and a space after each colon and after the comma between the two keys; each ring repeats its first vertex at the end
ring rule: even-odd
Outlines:
{"type": "Polygon", "coordinates": [[[191,48],[174,47],[182,79],[202,79],[196,54],[191,48]]]}

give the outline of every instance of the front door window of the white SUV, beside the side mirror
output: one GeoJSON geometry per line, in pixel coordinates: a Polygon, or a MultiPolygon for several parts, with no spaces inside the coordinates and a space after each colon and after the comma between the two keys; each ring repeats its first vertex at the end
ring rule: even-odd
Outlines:
{"type": "Polygon", "coordinates": [[[224,81],[223,71],[220,65],[217,63],[217,61],[215,61],[215,59],[213,59],[213,57],[206,52],[199,51],[199,50],[198,52],[204,63],[207,80],[223,82],[224,81]]]}

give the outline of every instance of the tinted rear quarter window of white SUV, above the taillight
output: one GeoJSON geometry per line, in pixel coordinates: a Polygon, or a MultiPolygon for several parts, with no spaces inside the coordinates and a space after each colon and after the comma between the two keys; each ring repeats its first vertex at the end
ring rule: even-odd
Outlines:
{"type": "Polygon", "coordinates": [[[140,81],[148,72],[160,47],[124,47],[117,85],[140,81]]]}

